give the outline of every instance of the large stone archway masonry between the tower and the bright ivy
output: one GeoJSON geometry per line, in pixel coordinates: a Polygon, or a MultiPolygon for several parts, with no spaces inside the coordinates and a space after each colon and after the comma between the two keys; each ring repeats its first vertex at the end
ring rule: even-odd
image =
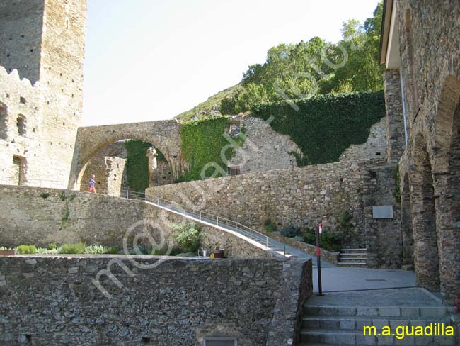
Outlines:
{"type": "Polygon", "coordinates": [[[96,152],[126,138],[154,143],[166,157],[174,176],[185,166],[180,153],[180,124],[176,120],[79,128],[69,188],[78,189],[88,162],[96,152]]]}

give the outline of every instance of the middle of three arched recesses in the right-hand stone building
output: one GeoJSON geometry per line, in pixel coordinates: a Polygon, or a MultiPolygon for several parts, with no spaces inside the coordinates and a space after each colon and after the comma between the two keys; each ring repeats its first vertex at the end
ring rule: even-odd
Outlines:
{"type": "Polygon", "coordinates": [[[415,137],[410,171],[410,203],[414,240],[414,264],[418,286],[439,291],[439,257],[435,192],[425,137],[415,137]]]}

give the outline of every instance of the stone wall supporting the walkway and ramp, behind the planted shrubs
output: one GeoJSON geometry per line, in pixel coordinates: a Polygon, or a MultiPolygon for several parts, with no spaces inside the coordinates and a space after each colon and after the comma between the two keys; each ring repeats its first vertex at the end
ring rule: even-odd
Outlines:
{"type": "MultiPolygon", "coordinates": [[[[132,250],[134,235],[144,233],[156,243],[149,244],[144,236],[139,245],[173,247],[178,233],[171,225],[188,222],[183,216],[142,201],[113,196],[25,186],[0,186],[0,192],[0,246],[5,247],[85,242],[117,246],[122,250],[125,238],[127,250],[132,250]]],[[[273,257],[232,233],[199,226],[205,235],[203,247],[208,253],[219,248],[225,250],[228,257],[273,257]]]]}

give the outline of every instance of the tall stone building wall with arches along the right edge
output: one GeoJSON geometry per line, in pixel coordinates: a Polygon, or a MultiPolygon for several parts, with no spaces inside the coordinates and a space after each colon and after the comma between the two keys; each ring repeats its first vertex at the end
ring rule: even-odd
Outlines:
{"type": "Polygon", "coordinates": [[[412,223],[404,223],[413,237],[406,238],[413,238],[418,284],[452,303],[460,295],[460,4],[394,4],[408,130],[400,164],[410,186],[403,203],[412,223]]]}

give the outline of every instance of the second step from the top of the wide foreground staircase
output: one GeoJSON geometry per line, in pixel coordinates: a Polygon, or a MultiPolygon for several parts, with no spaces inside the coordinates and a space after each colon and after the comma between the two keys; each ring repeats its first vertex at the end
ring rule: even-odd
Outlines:
{"type": "Polygon", "coordinates": [[[444,323],[450,325],[449,317],[442,318],[408,318],[408,317],[380,317],[380,316],[362,316],[362,317],[334,317],[334,316],[305,316],[302,318],[302,328],[304,329],[332,329],[332,330],[354,330],[356,333],[362,331],[364,326],[375,326],[376,328],[383,328],[389,326],[396,328],[421,326],[426,327],[432,323],[444,323]]]}

